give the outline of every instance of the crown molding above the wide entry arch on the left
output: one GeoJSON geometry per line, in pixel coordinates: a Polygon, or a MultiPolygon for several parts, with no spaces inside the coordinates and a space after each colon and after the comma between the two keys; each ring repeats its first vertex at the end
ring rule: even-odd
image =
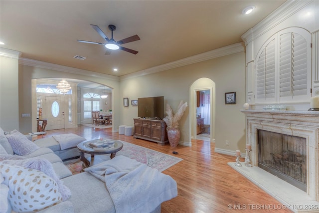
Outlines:
{"type": "Polygon", "coordinates": [[[85,76],[91,76],[91,77],[97,77],[97,78],[106,78],[106,79],[119,81],[118,76],[107,75],[107,74],[103,74],[99,72],[92,72],[85,69],[78,69],[78,68],[73,68],[69,66],[63,66],[59,64],[53,64],[53,63],[48,63],[48,62],[38,61],[38,60],[33,60],[28,58],[20,58],[19,64],[39,67],[44,69],[52,69],[52,70],[60,71],[60,72],[67,72],[72,74],[85,75],[85,76]]]}

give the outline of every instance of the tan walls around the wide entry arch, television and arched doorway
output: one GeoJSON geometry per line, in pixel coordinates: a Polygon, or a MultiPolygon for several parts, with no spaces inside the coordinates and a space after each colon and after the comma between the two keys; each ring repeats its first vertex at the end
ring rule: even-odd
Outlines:
{"type": "MultiPolygon", "coordinates": [[[[86,75],[65,73],[51,69],[20,65],[18,78],[20,112],[32,112],[30,86],[31,79],[50,77],[88,80],[105,84],[114,88],[112,91],[114,129],[117,129],[118,126],[122,124],[133,125],[133,118],[137,117],[138,107],[132,106],[131,100],[138,99],[139,97],[163,95],[165,97],[165,103],[169,103],[175,111],[180,100],[186,101],[189,105],[189,102],[192,99],[190,95],[190,87],[193,82],[202,77],[209,78],[216,84],[216,148],[229,151],[234,151],[236,149],[244,150],[245,148],[245,117],[243,113],[240,112],[240,109],[242,109],[242,106],[245,102],[244,52],[150,75],[122,80],[121,82],[86,75]],[[233,91],[235,91],[237,95],[237,104],[225,105],[225,92],[233,91]],[[124,97],[129,98],[129,107],[123,106],[124,97]],[[230,146],[224,145],[225,140],[229,140],[230,146]]],[[[17,114],[14,115],[17,117],[17,114]]],[[[180,120],[180,140],[185,144],[191,143],[190,115],[191,113],[189,112],[188,107],[180,120]]],[[[19,118],[17,117],[16,119],[18,120],[19,118]]],[[[24,122],[24,119],[21,118],[19,124],[21,132],[31,131],[30,123],[24,122]]]]}

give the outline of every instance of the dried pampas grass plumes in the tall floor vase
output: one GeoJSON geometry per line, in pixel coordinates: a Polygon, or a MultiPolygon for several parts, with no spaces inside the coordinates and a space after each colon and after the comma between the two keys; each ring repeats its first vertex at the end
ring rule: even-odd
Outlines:
{"type": "Polygon", "coordinates": [[[166,104],[166,113],[167,116],[163,118],[167,125],[167,130],[170,128],[178,128],[179,124],[178,121],[180,120],[181,116],[183,116],[184,111],[186,110],[187,102],[180,101],[177,112],[174,114],[173,110],[169,106],[169,104],[166,104]]]}

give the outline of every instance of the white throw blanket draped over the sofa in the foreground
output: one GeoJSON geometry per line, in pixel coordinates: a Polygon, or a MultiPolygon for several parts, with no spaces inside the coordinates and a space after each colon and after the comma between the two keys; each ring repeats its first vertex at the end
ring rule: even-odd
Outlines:
{"type": "Polygon", "coordinates": [[[170,176],[125,156],[85,171],[105,182],[117,213],[149,213],[177,196],[177,184],[170,176]]]}

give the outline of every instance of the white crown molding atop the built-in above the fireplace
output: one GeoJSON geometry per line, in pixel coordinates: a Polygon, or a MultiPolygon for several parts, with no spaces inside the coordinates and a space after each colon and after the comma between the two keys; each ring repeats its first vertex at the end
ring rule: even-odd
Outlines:
{"type": "Polygon", "coordinates": [[[275,11],[269,14],[265,19],[260,21],[254,27],[245,32],[241,39],[247,45],[256,38],[262,36],[314,0],[288,0],[278,7],[275,11]]]}

